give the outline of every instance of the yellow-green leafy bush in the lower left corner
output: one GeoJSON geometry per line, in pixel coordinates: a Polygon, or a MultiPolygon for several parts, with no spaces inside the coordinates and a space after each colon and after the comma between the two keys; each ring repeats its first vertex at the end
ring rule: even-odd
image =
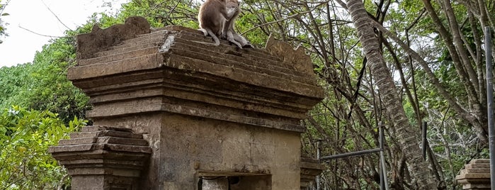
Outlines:
{"type": "Polygon", "coordinates": [[[66,171],[47,152],[60,139],[79,130],[86,121],[73,118],[68,125],[50,111],[19,106],[0,115],[0,189],[56,189],[67,184],[66,171]]]}

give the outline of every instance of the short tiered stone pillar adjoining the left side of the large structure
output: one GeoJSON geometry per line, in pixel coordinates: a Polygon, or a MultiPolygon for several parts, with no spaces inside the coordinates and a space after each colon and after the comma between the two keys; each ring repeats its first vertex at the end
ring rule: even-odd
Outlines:
{"type": "Polygon", "coordinates": [[[86,126],[48,152],[67,168],[72,189],[139,189],[152,150],[142,135],[125,128],[86,126]]]}

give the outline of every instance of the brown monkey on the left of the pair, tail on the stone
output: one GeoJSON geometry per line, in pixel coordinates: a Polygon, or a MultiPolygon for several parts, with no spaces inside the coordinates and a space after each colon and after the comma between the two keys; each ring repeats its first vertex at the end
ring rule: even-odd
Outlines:
{"type": "MultiPolygon", "coordinates": [[[[224,31],[225,23],[231,21],[234,17],[235,11],[227,11],[227,0],[206,0],[200,7],[200,11],[198,13],[198,22],[200,23],[200,31],[203,32],[205,36],[210,35],[215,43],[203,43],[206,45],[220,45],[220,40],[217,36],[222,35],[224,31]]],[[[241,47],[241,44],[237,43],[236,40],[230,38],[231,43],[234,43],[238,47],[241,47]]],[[[227,39],[228,40],[228,39],[227,39]]]]}

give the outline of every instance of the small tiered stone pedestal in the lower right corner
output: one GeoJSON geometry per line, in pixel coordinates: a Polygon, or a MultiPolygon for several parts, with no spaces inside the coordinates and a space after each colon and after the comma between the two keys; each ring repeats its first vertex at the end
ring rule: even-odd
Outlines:
{"type": "Polygon", "coordinates": [[[462,189],[491,189],[490,160],[471,160],[455,179],[457,183],[462,184],[462,189]]]}

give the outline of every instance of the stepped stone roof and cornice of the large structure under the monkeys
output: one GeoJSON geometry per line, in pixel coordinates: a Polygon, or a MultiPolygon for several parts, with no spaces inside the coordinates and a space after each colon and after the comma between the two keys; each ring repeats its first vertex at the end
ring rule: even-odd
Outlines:
{"type": "MultiPolygon", "coordinates": [[[[197,40],[205,38],[180,26],[138,35],[79,60],[68,78],[91,96],[88,115],[95,119],[169,111],[304,132],[299,120],[323,97],[307,71],[292,67],[305,58],[280,60],[263,50],[197,40]]],[[[272,52],[300,55],[284,43],[269,44],[272,52]]]]}

